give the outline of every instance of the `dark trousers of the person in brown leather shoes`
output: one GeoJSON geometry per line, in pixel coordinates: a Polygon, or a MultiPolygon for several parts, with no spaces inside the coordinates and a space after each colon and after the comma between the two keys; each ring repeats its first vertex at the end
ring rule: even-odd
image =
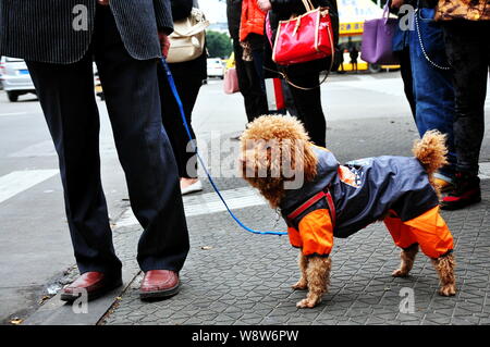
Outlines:
{"type": "Polygon", "coordinates": [[[131,206],[144,228],[138,263],[143,271],[179,271],[188,252],[188,235],[175,159],[161,124],[157,61],[138,61],[127,53],[109,8],[97,9],[95,26],[81,61],[27,62],[59,156],[78,269],[121,273],[100,179],[95,57],[131,206]]]}

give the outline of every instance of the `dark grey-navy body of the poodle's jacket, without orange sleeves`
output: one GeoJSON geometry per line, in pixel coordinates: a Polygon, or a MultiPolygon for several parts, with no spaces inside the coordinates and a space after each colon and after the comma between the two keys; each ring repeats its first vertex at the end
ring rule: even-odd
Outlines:
{"type": "Polygon", "coordinates": [[[418,159],[383,156],[370,158],[358,166],[340,164],[332,152],[314,147],[318,159],[317,176],[298,189],[286,190],[281,201],[281,213],[289,226],[298,227],[309,212],[328,209],[324,199],[306,209],[295,220],[286,215],[310,197],[329,187],[335,206],[335,237],[348,237],[382,219],[389,210],[402,221],[409,221],[439,205],[436,190],[418,159]],[[347,179],[348,178],[348,179],[347,179]]]}

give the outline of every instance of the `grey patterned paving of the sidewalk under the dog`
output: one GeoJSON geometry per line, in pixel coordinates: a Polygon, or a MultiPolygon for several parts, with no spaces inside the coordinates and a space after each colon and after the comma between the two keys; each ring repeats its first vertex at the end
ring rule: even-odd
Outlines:
{"type": "MultiPolygon", "coordinates": [[[[142,302],[138,275],[101,324],[490,324],[490,181],[482,183],[486,202],[444,213],[456,240],[458,293],[437,294],[429,259],[419,255],[408,278],[391,277],[399,250],[380,223],[354,237],[335,240],[331,287],[321,305],[296,309],[304,293],[297,281],[296,250],[286,237],[241,231],[225,213],[188,219],[192,250],[181,273],[180,295],[142,302]],[[413,288],[415,312],[401,313],[402,288],[413,288]]],[[[273,227],[266,207],[240,211],[244,222],[273,227]]],[[[282,223],[281,223],[282,224],[282,223]]]]}

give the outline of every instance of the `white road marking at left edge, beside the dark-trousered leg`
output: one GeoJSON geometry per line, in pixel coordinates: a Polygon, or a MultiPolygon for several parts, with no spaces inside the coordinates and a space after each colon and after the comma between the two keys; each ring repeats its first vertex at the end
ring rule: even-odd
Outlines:
{"type": "Polygon", "coordinates": [[[51,178],[58,170],[14,171],[0,177],[0,203],[13,196],[51,178]]]}

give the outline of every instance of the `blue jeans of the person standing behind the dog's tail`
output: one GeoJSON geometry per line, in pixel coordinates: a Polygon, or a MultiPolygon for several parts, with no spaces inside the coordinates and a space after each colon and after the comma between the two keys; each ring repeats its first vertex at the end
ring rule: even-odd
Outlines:
{"type": "MultiPolygon", "coordinates": [[[[420,38],[428,58],[440,66],[449,66],[442,28],[432,20],[433,13],[432,9],[419,9],[417,12],[420,38]]],[[[456,165],[453,134],[455,113],[453,73],[436,67],[427,60],[420,46],[417,26],[414,30],[409,30],[408,46],[414,78],[415,123],[420,136],[431,129],[446,134],[450,163],[440,170],[440,174],[452,178],[456,165]]]]}

